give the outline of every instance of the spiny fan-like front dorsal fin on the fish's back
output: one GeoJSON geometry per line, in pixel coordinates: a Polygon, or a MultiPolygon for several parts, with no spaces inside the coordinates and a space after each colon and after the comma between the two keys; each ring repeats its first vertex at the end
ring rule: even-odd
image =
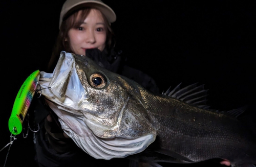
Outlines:
{"type": "Polygon", "coordinates": [[[206,105],[207,91],[204,89],[204,85],[197,86],[198,83],[188,85],[180,89],[180,85],[177,85],[173,90],[168,88],[165,93],[166,96],[179,99],[185,103],[196,105],[203,109],[208,109],[210,106],[206,105]]]}

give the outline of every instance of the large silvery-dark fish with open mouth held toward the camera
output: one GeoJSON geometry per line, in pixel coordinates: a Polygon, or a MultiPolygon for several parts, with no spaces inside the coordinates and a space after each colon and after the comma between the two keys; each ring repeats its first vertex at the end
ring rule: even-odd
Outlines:
{"type": "Polygon", "coordinates": [[[40,92],[62,129],[96,159],[148,154],[175,163],[256,163],[256,137],[237,119],[243,109],[220,112],[201,105],[203,86],[154,94],[87,56],[66,52],[53,74],[40,73],[40,92]]]}

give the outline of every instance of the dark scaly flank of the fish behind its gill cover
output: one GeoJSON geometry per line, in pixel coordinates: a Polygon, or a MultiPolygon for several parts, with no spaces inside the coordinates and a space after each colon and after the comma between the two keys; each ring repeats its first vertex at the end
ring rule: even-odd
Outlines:
{"type": "MultiPolygon", "coordinates": [[[[145,97],[144,99],[154,99],[154,97],[145,97]]],[[[159,100],[159,97],[157,99],[153,100],[154,103],[149,101],[147,103],[151,104],[149,110],[153,111],[152,117],[154,117],[154,123],[157,123],[160,140],[161,138],[168,138],[168,141],[165,139],[166,142],[161,142],[161,148],[172,150],[195,162],[212,158],[238,160],[239,157],[231,157],[237,156],[236,154],[239,152],[255,151],[255,147],[248,150],[248,146],[255,146],[255,142],[252,137],[244,137],[250,136],[249,131],[243,129],[243,125],[235,118],[228,117],[224,113],[195,109],[194,106],[189,106],[172,98],[169,98],[169,101],[176,101],[177,103],[168,102],[166,97],[163,98],[164,100],[159,100]],[[156,103],[157,101],[159,104],[156,103]],[[172,113],[169,113],[168,116],[161,114],[161,111],[159,112],[160,107],[158,106],[169,106],[164,102],[173,106],[172,113]],[[168,128],[174,130],[166,133],[168,128]],[[247,147],[238,145],[241,142],[247,147]],[[191,145],[193,148],[189,149],[191,145]]],[[[255,154],[251,161],[253,160],[255,160],[255,154]]]]}

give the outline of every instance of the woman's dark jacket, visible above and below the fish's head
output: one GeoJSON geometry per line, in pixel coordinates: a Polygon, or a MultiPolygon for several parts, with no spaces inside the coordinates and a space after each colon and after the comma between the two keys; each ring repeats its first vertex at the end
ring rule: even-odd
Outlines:
{"type": "MultiPolygon", "coordinates": [[[[147,90],[159,93],[154,79],[142,71],[127,66],[121,52],[102,53],[97,49],[87,50],[86,55],[100,66],[114,73],[130,78],[147,90]]],[[[33,100],[34,122],[40,130],[35,133],[35,160],[39,166],[128,166],[132,161],[125,158],[112,160],[95,159],[78,148],[71,138],[65,138],[56,114],[47,106],[44,98],[33,100]],[[52,115],[53,122],[48,122],[46,116],[52,115]]],[[[32,110],[30,108],[30,110],[32,110]]],[[[132,162],[134,163],[134,162],[132,162]]]]}

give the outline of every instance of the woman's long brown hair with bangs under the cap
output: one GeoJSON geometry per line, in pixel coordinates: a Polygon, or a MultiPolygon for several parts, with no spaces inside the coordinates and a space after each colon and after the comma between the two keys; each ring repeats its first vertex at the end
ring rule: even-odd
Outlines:
{"type": "MultiPolygon", "coordinates": [[[[86,17],[88,16],[91,9],[93,8],[91,7],[80,8],[79,10],[76,10],[72,12],[70,15],[63,18],[55,45],[53,47],[52,56],[48,63],[48,67],[47,67],[48,73],[52,73],[53,69],[55,68],[61,51],[72,52],[70,49],[69,42],[65,40],[65,39],[68,39],[68,32],[72,28],[79,27],[83,23],[84,19],[86,19],[86,17]]],[[[104,26],[106,27],[106,30],[107,30],[105,49],[110,51],[112,48],[115,47],[115,44],[116,44],[115,34],[111,28],[111,25],[108,19],[106,19],[105,15],[102,12],[101,14],[104,19],[104,26]]]]}

